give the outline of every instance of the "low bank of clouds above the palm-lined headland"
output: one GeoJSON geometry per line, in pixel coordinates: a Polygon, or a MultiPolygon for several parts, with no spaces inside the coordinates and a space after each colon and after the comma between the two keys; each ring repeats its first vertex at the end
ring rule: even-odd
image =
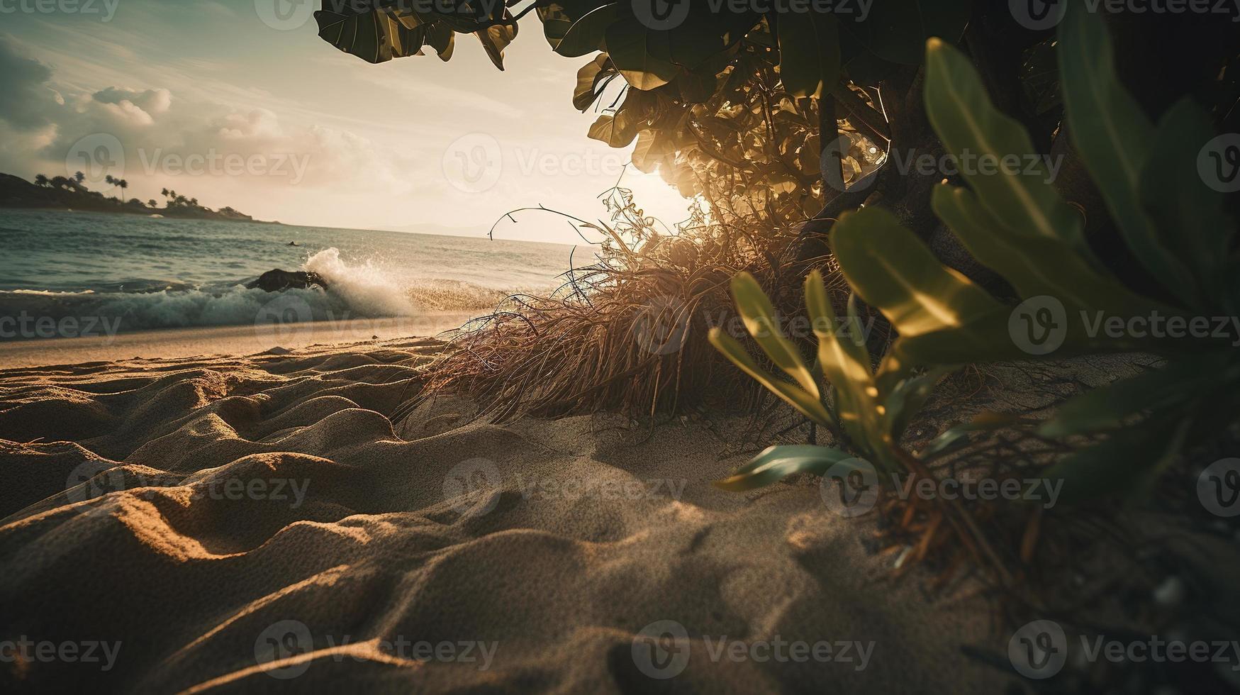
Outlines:
{"type": "MultiPolygon", "coordinates": [[[[107,174],[126,179],[134,195],[176,187],[205,205],[242,210],[253,208],[247,201],[408,195],[418,165],[347,130],[285,123],[267,108],[181,98],[176,86],[91,91],[62,84],[55,68],[0,37],[0,170],[32,176],[89,169],[91,163],[68,155],[95,151],[99,138],[120,143],[123,151],[109,159],[119,170],[107,174]],[[281,195],[273,196],[273,189],[281,195]]],[[[102,177],[102,171],[91,174],[102,177]]]]}

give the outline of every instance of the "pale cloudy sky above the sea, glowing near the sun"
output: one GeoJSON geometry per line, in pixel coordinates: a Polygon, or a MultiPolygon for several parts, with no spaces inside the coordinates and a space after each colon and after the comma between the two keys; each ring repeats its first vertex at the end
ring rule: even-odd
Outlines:
{"type": "Polygon", "coordinates": [[[164,187],[262,220],[573,243],[622,179],[667,223],[687,201],[585,137],[590,57],[551,51],[529,15],[503,72],[474,36],[370,65],[317,37],[314,0],[0,0],[0,171],[83,171],[125,197],[164,187]],[[275,5],[279,2],[280,5],[275,5]],[[300,2],[300,4],[298,4],[300,2]],[[277,14],[279,9],[283,12],[277,14]],[[286,17],[286,19],[284,19],[286,17]]]}

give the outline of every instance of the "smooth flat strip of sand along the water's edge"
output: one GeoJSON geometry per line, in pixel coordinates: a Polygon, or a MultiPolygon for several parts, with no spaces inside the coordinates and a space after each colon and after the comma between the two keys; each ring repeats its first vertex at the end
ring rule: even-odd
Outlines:
{"type": "Polygon", "coordinates": [[[420,316],[293,324],[190,326],[81,338],[0,341],[0,369],[32,369],[130,359],[255,355],[311,345],[358,345],[459,329],[476,312],[428,312],[420,316]]]}

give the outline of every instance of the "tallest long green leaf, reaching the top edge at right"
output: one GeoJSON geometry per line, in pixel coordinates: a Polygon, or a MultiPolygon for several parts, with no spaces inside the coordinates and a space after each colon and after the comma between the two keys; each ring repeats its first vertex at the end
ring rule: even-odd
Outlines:
{"type": "Polygon", "coordinates": [[[1102,17],[1084,5],[1071,6],[1058,51],[1068,132],[1111,218],[1141,264],[1172,294],[1197,305],[1193,276],[1161,243],[1141,205],[1141,171],[1154,143],[1154,127],[1120,83],[1102,17]]]}

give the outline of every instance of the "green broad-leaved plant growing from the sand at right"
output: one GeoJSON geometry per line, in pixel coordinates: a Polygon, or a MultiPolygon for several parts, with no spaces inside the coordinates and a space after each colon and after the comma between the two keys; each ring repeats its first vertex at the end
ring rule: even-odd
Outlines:
{"type": "MultiPolygon", "coordinates": [[[[1235,336],[1184,340],[1135,331],[1115,335],[1091,330],[1094,316],[1118,319],[1123,325],[1131,325],[1133,316],[1161,315],[1185,323],[1233,318],[1240,305],[1240,284],[1234,280],[1240,258],[1235,221],[1224,215],[1221,196],[1198,174],[1198,153],[1214,137],[1203,109],[1184,99],[1157,127],[1149,123],[1121,87],[1106,27],[1092,14],[1069,11],[1059,46],[1068,125],[1126,246],[1157,279],[1161,297],[1130,289],[1094,256],[1081,232],[1081,217],[1038,166],[997,175],[965,173],[968,187],[940,185],[934,191],[934,208],[981,263],[1011,283],[1025,300],[1022,307],[1061,308],[1052,312],[1059,321],[1053,328],[1060,330],[1063,340],[1055,357],[1130,350],[1166,357],[1163,369],[1086,392],[1040,426],[1045,437],[1110,433],[1045,472],[1065,482],[1061,499],[1079,500],[1147,491],[1187,442],[1218,436],[1240,416],[1240,356],[1230,344],[1235,336]]],[[[926,67],[926,110],[950,151],[993,161],[1012,156],[1025,160],[1033,151],[1029,135],[994,107],[976,68],[960,51],[930,40],[926,67]]],[[[894,397],[918,367],[929,367],[929,375],[935,375],[970,362],[1030,357],[1028,345],[1022,346],[1014,333],[1024,328],[1014,319],[1022,314],[942,266],[890,212],[868,207],[844,215],[831,232],[831,246],[849,285],[899,333],[875,372],[869,391],[875,397],[894,397]]],[[[821,305],[812,284],[806,289],[811,315],[813,307],[821,305]]],[[[744,278],[735,287],[738,309],[760,316],[760,290],[744,278]]],[[[779,340],[766,336],[758,343],[773,362],[797,377],[804,393],[792,393],[792,385],[759,372],[755,377],[764,386],[816,422],[826,424],[844,413],[869,417],[870,424],[854,426],[844,434],[857,442],[861,433],[862,451],[887,463],[884,455],[890,452],[877,443],[892,444],[884,437],[898,432],[883,429],[879,407],[903,407],[908,417],[908,407],[924,401],[920,393],[898,403],[858,401],[857,385],[869,388],[854,366],[861,355],[826,350],[823,345],[832,344],[820,343],[821,371],[836,393],[835,418],[806,397],[815,396],[806,379],[811,370],[801,370],[779,340]],[[841,403],[847,410],[841,410],[841,403]],[[867,413],[863,408],[872,410],[867,413]]],[[[718,345],[754,374],[753,360],[738,345],[723,336],[718,336],[718,345]]],[[[825,448],[816,454],[800,447],[768,449],[720,484],[744,489],[785,473],[821,472],[841,455],[846,454],[825,448]]]]}

